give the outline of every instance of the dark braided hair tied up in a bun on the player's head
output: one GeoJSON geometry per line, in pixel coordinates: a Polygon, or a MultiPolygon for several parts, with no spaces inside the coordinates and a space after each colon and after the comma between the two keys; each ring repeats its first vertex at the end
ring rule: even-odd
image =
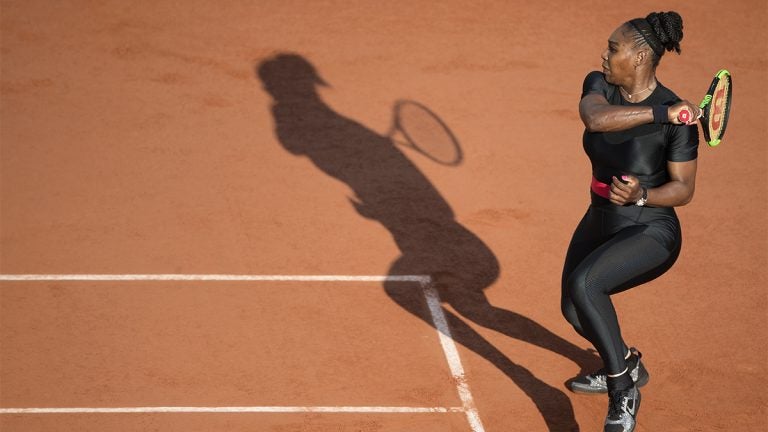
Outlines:
{"type": "Polygon", "coordinates": [[[683,18],[677,12],[651,12],[645,18],[635,18],[627,24],[634,31],[634,46],[651,48],[654,67],[658,66],[665,51],[680,54],[683,18]]]}

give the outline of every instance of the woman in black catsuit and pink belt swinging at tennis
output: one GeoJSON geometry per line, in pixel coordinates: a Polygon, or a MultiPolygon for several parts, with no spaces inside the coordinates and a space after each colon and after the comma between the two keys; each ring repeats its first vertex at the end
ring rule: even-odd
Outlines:
{"type": "Polygon", "coordinates": [[[681,244],[674,207],[693,197],[698,129],[677,117],[700,110],[656,79],[660,58],[679,53],[682,37],[675,12],[622,24],[608,39],[602,72],[584,80],[579,104],[592,203],[568,248],[562,311],[603,360],[603,369],[576,377],[571,389],[609,394],[605,431],[634,430],[637,387],[648,381],[640,353],[621,337],[610,296],[672,266],[681,244]]]}

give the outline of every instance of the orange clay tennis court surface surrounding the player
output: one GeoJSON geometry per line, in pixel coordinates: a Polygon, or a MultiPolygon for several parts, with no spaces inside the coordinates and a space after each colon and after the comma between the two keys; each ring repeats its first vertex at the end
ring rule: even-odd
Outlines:
{"type": "Polygon", "coordinates": [[[578,98],[669,9],[659,79],[698,101],[728,68],[734,105],[677,264],[615,297],[637,430],[766,429],[762,0],[3,0],[0,429],[601,430],[564,385],[600,365],[559,304],[578,98]],[[460,164],[389,140],[398,100],[460,164]]]}

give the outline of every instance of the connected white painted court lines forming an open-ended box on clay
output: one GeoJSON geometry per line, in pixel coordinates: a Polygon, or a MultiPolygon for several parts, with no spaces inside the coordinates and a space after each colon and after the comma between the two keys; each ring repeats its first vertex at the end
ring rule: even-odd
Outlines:
{"type": "Polygon", "coordinates": [[[12,413],[74,413],[74,412],[464,412],[472,432],[485,432],[478,415],[472,392],[469,390],[464,367],[459,352],[451,335],[448,320],[440,302],[440,296],[432,285],[432,278],[426,275],[390,275],[390,276],[343,276],[343,275],[189,275],[189,274],[17,274],[0,275],[0,281],[311,281],[311,282],[418,282],[429,306],[432,323],[437,330],[440,346],[448,361],[451,375],[456,382],[456,390],[462,403],[461,408],[397,408],[397,407],[218,407],[218,408],[8,408],[0,409],[0,414],[12,413]],[[259,409],[268,408],[273,411],[259,409]],[[171,410],[188,411],[171,411],[171,410]],[[199,411],[199,410],[215,411],[199,411]],[[245,411],[245,410],[254,411],[245,411]],[[78,411],[91,410],[91,411],[78,411]],[[122,410],[122,411],[118,411],[122,410]],[[151,411],[136,411],[151,410],[151,411]],[[239,410],[239,411],[238,411],[239,410]],[[275,411],[284,410],[284,411],[275,411]],[[336,411],[331,411],[336,410],[336,411]],[[363,411],[356,411],[363,410],[363,411]],[[415,410],[415,411],[413,411],[415,410]]]}

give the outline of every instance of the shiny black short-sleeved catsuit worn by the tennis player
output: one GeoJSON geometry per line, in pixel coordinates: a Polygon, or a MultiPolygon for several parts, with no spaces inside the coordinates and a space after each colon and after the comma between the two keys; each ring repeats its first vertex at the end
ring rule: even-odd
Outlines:
{"type": "MultiPolygon", "coordinates": [[[[625,101],[618,87],[600,72],[584,80],[581,97],[597,93],[611,105],[672,105],[680,99],[658,83],[645,100],[625,101]]],[[[620,132],[584,132],[584,150],[597,181],[632,174],[642,186],[669,181],[667,162],[698,156],[696,125],[646,124],[620,132]]],[[[673,208],[619,206],[591,191],[592,203],[573,234],[565,259],[561,307],[576,331],[600,353],[608,374],[626,368],[610,295],[648,282],[666,272],[680,252],[680,224],[673,208]]]]}

